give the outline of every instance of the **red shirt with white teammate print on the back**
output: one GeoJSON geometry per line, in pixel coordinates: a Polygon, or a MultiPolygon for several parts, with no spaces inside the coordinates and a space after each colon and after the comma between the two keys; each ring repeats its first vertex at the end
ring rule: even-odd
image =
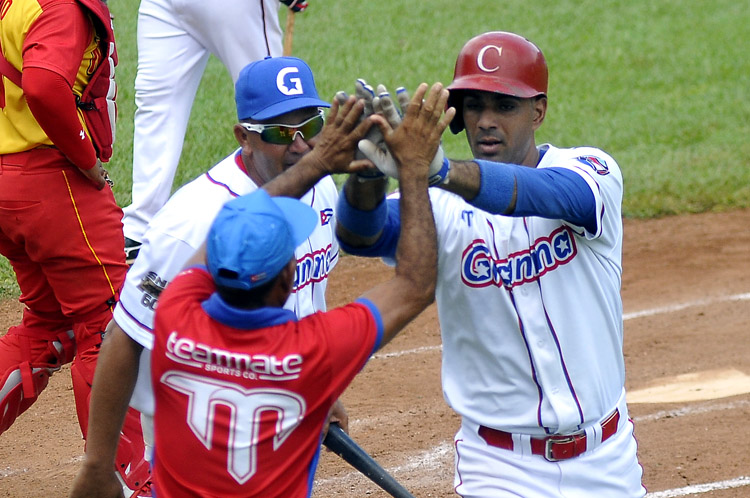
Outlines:
{"type": "Polygon", "coordinates": [[[308,497],[328,412],[382,340],[360,300],[297,320],[224,304],[205,267],[159,299],[151,379],[160,497],[308,497]]]}

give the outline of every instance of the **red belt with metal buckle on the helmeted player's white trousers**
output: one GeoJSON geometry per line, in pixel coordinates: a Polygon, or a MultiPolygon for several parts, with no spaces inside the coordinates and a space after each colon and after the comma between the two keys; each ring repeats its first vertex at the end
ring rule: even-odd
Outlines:
{"type": "MultiPolygon", "coordinates": [[[[617,432],[620,412],[615,409],[612,415],[602,422],[602,442],[617,432]]],[[[487,444],[504,450],[513,449],[513,435],[483,425],[479,426],[479,436],[487,444]]],[[[553,435],[542,438],[531,438],[531,453],[543,456],[550,462],[575,458],[586,451],[586,433],[579,432],[570,435],[553,435]]]]}

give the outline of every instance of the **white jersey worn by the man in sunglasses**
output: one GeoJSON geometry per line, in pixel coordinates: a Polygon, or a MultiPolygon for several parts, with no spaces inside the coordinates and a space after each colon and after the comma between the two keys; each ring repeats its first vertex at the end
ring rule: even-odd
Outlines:
{"type": "MultiPolygon", "coordinates": [[[[144,347],[131,399],[131,405],[143,413],[153,414],[150,350],[159,293],[203,244],[224,203],[258,188],[240,169],[239,154],[238,149],[175,192],[149,224],[143,247],[125,279],[114,319],[144,347]]],[[[326,309],[328,274],[339,254],[334,236],[337,198],[336,185],[330,177],[325,177],[300,199],[319,213],[319,222],[312,235],[295,251],[294,291],[284,307],[298,317],[326,309]]]]}

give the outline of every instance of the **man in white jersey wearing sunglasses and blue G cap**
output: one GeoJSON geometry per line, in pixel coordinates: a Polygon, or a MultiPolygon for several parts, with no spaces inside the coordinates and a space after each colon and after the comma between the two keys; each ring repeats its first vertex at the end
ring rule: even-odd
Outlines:
{"type": "MultiPolygon", "coordinates": [[[[172,196],[149,224],[141,253],[127,274],[102,348],[104,366],[94,380],[92,435],[72,496],[118,496],[114,473],[106,471],[102,462],[114,458],[116,439],[112,437],[119,434],[120,415],[128,401],[142,414],[147,446],[152,441],[150,350],[159,294],[200,248],[224,203],[267,185],[303,158],[341,163],[341,151],[348,147],[348,155],[343,154],[350,158],[348,164],[357,140],[364,136],[360,130],[365,125],[354,129],[355,118],[324,128],[321,108],[329,104],[318,97],[312,72],[300,59],[253,62],[240,73],[235,91],[240,123],[234,126],[234,134],[240,148],[172,196]]],[[[359,118],[362,108],[348,105],[339,114],[359,113],[359,118]]],[[[296,249],[294,290],[285,307],[299,317],[325,311],[328,274],[339,254],[334,236],[336,186],[326,176],[304,195],[281,190],[271,193],[299,194],[300,200],[318,213],[318,226],[296,249]]],[[[334,409],[333,420],[347,425],[340,404],[334,409]]]]}

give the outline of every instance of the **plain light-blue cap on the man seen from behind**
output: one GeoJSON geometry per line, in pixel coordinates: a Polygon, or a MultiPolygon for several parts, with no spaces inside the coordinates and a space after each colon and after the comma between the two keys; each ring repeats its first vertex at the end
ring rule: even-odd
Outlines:
{"type": "Polygon", "coordinates": [[[217,285],[232,289],[250,290],[270,282],[317,223],[310,206],[271,197],[263,189],[232,199],[208,232],[208,271],[217,285]]]}

